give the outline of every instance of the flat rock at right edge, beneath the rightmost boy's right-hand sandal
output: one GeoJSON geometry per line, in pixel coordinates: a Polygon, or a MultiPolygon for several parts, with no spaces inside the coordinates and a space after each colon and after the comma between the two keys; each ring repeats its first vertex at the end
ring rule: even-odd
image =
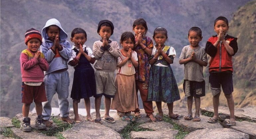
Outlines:
{"type": "Polygon", "coordinates": [[[236,126],[228,126],[227,122],[229,119],[225,119],[222,125],[243,133],[246,133],[250,136],[250,139],[256,139],[256,122],[248,121],[236,121],[236,126]]]}

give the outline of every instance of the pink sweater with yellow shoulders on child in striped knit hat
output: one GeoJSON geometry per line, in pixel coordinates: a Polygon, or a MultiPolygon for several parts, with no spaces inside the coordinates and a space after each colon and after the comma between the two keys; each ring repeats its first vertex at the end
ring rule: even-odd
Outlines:
{"type": "Polygon", "coordinates": [[[44,71],[48,70],[49,64],[41,53],[40,58],[34,58],[35,53],[25,49],[20,55],[22,82],[43,82],[44,71]]]}

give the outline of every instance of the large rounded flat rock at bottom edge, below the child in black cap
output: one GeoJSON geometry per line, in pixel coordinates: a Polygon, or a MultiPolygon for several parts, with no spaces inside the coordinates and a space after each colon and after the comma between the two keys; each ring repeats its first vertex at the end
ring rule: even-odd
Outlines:
{"type": "Polygon", "coordinates": [[[104,125],[81,121],[76,123],[71,129],[62,132],[66,139],[121,139],[121,135],[113,129],[104,125]]]}

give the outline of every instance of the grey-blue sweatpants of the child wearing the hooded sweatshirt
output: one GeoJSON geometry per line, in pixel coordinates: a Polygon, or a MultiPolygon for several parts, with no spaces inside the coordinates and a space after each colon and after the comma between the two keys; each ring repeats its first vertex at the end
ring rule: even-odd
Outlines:
{"type": "Polygon", "coordinates": [[[68,86],[69,74],[68,71],[53,72],[45,75],[45,91],[47,102],[43,102],[43,116],[44,120],[49,120],[52,114],[51,102],[54,94],[57,92],[61,117],[69,116],[68,104],[68,86]]]}

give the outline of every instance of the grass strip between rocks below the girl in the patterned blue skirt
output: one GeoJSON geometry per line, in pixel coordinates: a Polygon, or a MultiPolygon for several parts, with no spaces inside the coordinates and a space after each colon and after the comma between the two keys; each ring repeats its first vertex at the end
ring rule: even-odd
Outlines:
{"type": "Polygon", "coordinates": [[[179,124],[174,122],[169,116],[164,115],[163,121],[171,123],[173,125],[173,129],[179,131],[175,137],[176,139],[183,139],[187,134],[189,134],[188,131],[185,131],[179,124]]]}

